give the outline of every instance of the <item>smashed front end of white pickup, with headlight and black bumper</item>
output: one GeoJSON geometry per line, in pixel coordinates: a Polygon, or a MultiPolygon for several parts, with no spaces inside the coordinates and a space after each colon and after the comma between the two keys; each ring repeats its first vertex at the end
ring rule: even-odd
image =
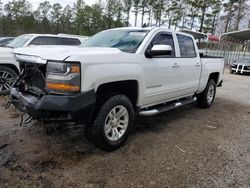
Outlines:
{"type": "Polygon", "coordinates": [[[81,92],[80,63],[26,55],[16,59],[21,74],[10,91],[10,103],[20,112],[44,123],[91,119],[95,92],[81,92]]]}

